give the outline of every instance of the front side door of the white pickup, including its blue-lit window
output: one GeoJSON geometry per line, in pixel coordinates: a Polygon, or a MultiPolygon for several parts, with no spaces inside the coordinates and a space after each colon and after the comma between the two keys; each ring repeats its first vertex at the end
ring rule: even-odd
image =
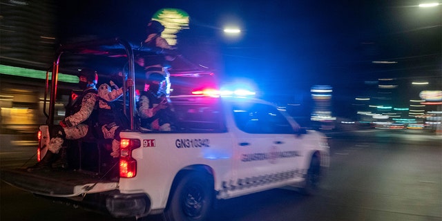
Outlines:
{"type": "Polygon", "coordinates": [[[287,118],[268,104],[238,103],[232,112],[238,130],[238,187],[253,188],[294,177],[300,146],[287,118]]]}

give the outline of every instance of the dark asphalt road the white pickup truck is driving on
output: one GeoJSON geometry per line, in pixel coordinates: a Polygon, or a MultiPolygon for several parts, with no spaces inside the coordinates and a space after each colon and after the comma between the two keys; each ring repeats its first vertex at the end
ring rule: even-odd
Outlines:
{"type": "MultiPolygon", "coordinates": [[[[327,137],[331,162],[316,195],[274,189],[222,200],[210,220],[441,220],[441,136],[372,130],[327,137]]],[[[3,150],[3,168],[33,154],[3,150]]],[[[0,220],[115,220],[35,198],[3,182],[0,187],[0,220]]]]}

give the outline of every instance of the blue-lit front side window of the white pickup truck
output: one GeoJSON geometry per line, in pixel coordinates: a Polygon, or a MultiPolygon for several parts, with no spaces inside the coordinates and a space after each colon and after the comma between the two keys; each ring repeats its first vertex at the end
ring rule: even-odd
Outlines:
{"type": "Polygon", "coordinates": [[[267,104],[233,106],[233,117],[236,126],[246,133],[294,133],[278,109],[267,104]]]}

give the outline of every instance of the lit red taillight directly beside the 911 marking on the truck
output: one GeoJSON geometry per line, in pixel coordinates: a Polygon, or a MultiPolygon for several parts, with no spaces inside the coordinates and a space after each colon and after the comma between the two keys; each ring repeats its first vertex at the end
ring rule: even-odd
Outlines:
{"type": "Polygon", "coordinates": [[[119,157],[119,177],[131,178],[137,175],[137,160],[133,159],[132,151],[141,146],[140,140],[122,139],[119,142],[121,157],[119,157]]]}

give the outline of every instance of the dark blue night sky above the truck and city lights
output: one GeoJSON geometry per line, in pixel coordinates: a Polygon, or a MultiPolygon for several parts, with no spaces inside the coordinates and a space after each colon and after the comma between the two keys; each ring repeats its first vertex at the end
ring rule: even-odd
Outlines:
{"type": "MultiPolygon", "coordinates": [[[[26,6],[15,2],[17,6],[10,8],[29,10],[25,14],[35,15],[36,20],[43,18],[41,8],[52,4],[51,0],[44,5],[30,1],[26,6]]],[[[186,59],[215,70],[224,81],[251,79],[273,98],[298,99],[308,96],[313,85],[330,85],[336,100],[347,102],[367,95],[371,86],[365,83],[379,78],[404,84],[431,81],[432,89],[442,88],[442,6],[419,8],[417,0],[53,2],[59,44],[97,37],[122,37],[137,44],[145,39],[146,23],[157,10],[180,8],[190,16],[190,29],[178,34],[177,44],[186,59]],[[227,38],[222,32],[226,23],[237,24],[240,37],[227,38]]],[[[3,13],[5,27],[17,21],[23,28],[36,28],[32,20],[19,23],[16,14],[3,13]]],[[[16,37],[4,39],[8,44],[26,44],[16,37]]],[[[15,51],[8,56],[15,56],[15,51]]],[[[41,53],[29,57],[37,56],[41,53]]],[[[406,93],[407,87],[398,90],[406,93]]]]}

